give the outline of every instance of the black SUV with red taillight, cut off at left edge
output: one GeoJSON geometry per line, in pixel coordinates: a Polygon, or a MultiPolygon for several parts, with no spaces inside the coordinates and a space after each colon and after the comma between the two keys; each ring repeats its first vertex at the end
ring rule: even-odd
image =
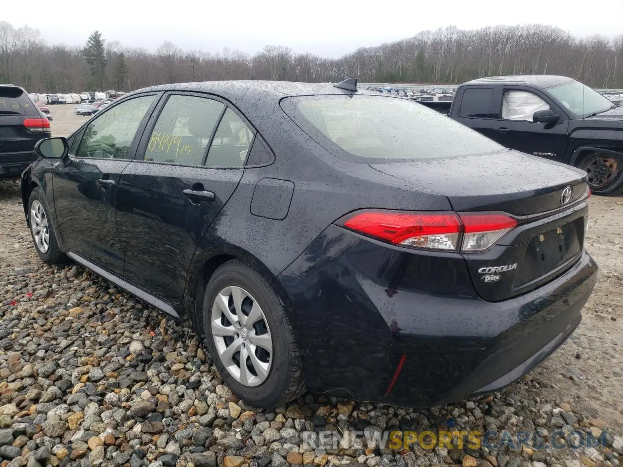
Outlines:
{"type": "Polygon", "coordinates": [[[23,88],[0,84],[0,179],[19,179],[37,160],[34,147],[50,137],[50,121],[23,88]]]}

